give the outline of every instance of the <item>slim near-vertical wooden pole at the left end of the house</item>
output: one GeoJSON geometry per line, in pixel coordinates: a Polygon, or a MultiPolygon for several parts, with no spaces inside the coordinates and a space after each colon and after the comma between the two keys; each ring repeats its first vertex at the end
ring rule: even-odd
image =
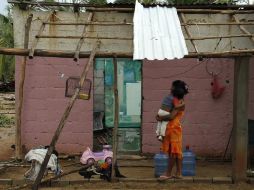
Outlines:
{"type": "MultiPolygon", "coordinates": [[[[25,24],[25,36],[24,36],[24,49],[28,48],[29,41],[29,31],[31,28],[33,15],[30,14],[27,18],[25,24]]],[[[22,148],[21,148],[21,117],[22,117],[22,107],[23,107],[23,94],[24,94],[24,83],[26,76],[26,61],[27,56],[22,58],[21,61],[21,75],[19,79],[19,89],[18,89],[18,109],[16,113],[16,135],[15,135],[15,157],[16,159],[21,159],[22,157],[22,148]]]]}

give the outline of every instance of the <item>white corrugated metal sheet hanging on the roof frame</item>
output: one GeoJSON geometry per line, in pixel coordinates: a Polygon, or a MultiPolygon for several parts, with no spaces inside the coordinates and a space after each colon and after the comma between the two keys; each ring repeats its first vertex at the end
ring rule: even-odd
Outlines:
{"type": "Polygon", "coordinates": [[[163,60],[188,54],[175,8],[144,8],[136,2],[133,59],[163,60]]]}

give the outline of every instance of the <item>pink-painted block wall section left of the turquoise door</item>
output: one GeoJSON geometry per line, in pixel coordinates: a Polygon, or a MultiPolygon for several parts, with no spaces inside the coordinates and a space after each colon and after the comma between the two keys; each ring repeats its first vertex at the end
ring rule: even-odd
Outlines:
{"type": "MultiPolygon", "coordinates": [[[[16,58],[16,97],[21,58],[16,58]]],[[[65,82],[69,76],[80,76],[87,62],[72,59],[37,58],[29,60],[24,86],[22,144],[26,150],[48,145],[70,100],[65,97],[65,82]],[[61,77],[61,73],[64,77],[61,77]]],[[[90,69],[89,79],[93,79],[90,69]]],[[[16,104],[17,105],[17,104],[16,104]]],[[[92,146],[93,98],[77,100],[57,142],[61,153],[79,153],[92,146]]]]}

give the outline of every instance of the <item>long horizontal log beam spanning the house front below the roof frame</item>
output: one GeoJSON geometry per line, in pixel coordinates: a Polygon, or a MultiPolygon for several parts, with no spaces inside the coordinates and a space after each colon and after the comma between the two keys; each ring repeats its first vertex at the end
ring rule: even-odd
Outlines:
{"type": "MultiPolygon", "coordinates": [[[[45,49],[35,49],[34,56],[38,57],[62,57],[62,58],[73,58],[74,51],[60,51],[60,50],[45,50],[45,49]]],[[[20,55],[27,56],[29,54],[28,49],[20,49],[20,48],[0,48],[0,54],[4,55],[20,55]]],[[[79,53],[80,58],[89,58],[90,52],[81,51],[79,53]]],[[[96,57],[98,58],[112,58],[113,55],[121,58],[132,58],[133,52],[105,52],[98,51],[96,53],[96,57]]],[[[185,55],[185,58],[199,58],[199,57],[245,57],[245,56],[253,56],[254,49],[247,50],[230,50],[230,51],[222,51],[222,52],[189,52],[188,55],[185,55]]]]}

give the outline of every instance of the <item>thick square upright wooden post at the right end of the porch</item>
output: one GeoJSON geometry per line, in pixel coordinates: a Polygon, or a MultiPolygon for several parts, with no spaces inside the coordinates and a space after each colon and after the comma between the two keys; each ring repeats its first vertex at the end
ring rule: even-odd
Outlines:
{"type": "Polygon", "coordinates": [[[249,57],[235,58],[233,102],[233,165],[234,182],[246,180],[248,150],[249,57]]]}

